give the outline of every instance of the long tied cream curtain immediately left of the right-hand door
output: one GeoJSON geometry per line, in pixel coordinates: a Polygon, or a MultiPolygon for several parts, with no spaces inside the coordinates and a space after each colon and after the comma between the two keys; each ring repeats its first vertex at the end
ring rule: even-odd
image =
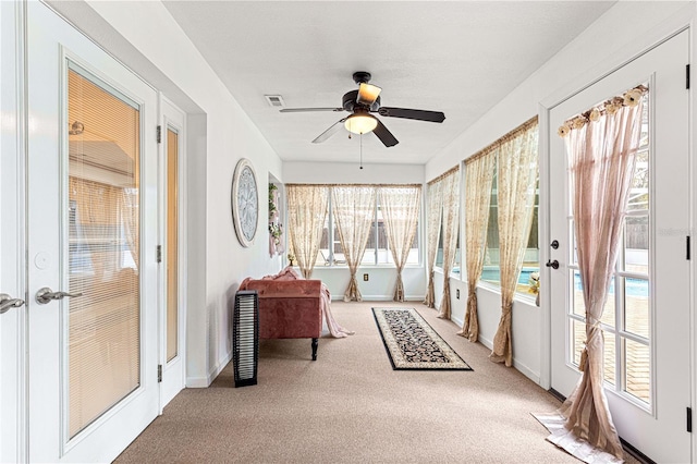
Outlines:
{"type": "Polygon", "coordinates": [[[530,234],[537,187],[537,118],[508,134],[496,148],[498,163],[501,319],[489,358],[513,365],[513,296],[530,234]]]}

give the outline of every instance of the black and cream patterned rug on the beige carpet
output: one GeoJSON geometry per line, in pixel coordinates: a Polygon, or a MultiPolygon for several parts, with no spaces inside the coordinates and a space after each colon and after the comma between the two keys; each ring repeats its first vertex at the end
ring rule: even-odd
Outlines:
{"type": "Polygon", "coordinates": [[[472,370],[414,308],[372,308],[395,370],[472,370]]]}

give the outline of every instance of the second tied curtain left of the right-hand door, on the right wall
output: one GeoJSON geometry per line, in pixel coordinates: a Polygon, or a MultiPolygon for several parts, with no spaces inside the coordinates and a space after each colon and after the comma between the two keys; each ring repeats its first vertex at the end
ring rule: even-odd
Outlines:
{"type": "Polygon", "coordinates": [[[470,342],[479,339],[477,317],[477,282],[484,268],[489,224],[491,181],[496,167],[492,151],[474,156],[465,161],[465,259],[467,260],[467,308],[460,335],[470,342]]]}

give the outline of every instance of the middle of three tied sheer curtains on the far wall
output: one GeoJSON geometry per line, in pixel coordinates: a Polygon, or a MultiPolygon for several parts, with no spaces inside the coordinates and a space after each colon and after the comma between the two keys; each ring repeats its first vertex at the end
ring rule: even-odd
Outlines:
{"type": "Polygon", "coordinates": [[[363,301],[356,280],[356,271],[366,251],[368,234],[375,223],[375,185],[334,186],[332,192],[332,213],[343,247],[351,280],[344,292],[344,302],[363,301]]]}

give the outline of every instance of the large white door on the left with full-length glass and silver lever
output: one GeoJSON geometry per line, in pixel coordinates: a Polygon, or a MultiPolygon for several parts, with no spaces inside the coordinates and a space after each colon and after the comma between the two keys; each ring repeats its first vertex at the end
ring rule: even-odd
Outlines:
{"type": "Polygon", "coordinates": [[[27,9],[28,460],[113,460],[158,414],[157,93],[27,9]]]}

